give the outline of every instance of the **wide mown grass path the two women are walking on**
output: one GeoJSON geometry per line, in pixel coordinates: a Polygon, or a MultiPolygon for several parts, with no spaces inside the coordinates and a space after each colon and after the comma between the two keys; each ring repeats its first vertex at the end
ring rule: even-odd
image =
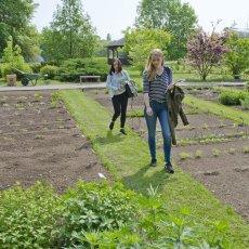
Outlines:
{"type": "Polygon", "coordinates": [[[223,220],[230,224],[225,237],[235,240],[235,248],[248,248],[249,224],[234,209],[218,200],[212,193],[175,166],[175,173],[163,169],[163,157],[158,152],[158,167],[148,166],[147,144],[134,132],[118,134],[118,122],[108,131],[112,114],[79,90],[61,90],[62,97],[81,132],[88,137],[103,163],[127,188],[145,194],[149,184],[158,186],[169,213],[182,207],[192,210],[198,225],[223,220]]]}

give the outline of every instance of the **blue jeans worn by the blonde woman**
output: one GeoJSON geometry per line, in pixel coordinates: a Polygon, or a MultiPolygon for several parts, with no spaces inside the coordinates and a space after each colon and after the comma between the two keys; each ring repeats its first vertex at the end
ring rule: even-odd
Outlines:
{"type": "Polygon", "coordinates": [[[152,158],[156,158],[156,126],[157,118],[159,119],[161,126],[161,133],[163,139],[163,153],[165,153],[165,161],[170,161],[171,157],[171,132],[169,126],[169,117],[168,110],[165,103],[150,102],[149,103],[153,115],[148,116],[146,114],[146,106],[144,108],[144,117],[147,124],[148,130],[148,147],[150,152],[152,158]]]}

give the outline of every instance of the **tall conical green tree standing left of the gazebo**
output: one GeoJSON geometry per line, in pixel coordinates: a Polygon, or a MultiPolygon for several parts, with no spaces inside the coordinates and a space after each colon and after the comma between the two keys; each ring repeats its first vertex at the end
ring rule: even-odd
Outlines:
{"type": "Polygon", "coordinates": [[[45,57],[57,61],[91,56],[97,40],[80,0],[62,0],[51,27],[43,29],[42,34],[45,57]]]}

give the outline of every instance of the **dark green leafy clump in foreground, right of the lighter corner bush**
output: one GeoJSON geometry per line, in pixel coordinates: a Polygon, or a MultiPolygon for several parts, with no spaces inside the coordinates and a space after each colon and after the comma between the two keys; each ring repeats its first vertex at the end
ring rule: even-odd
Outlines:
{"type": "Polygon", "coordinates": [[[56,236],[60,245],[78,245],[86,232],[119,230],[137,215],[136,195],[120,184],[110,186],[84,184],[79,181],[64,196],[61,225],[56,236]]]}

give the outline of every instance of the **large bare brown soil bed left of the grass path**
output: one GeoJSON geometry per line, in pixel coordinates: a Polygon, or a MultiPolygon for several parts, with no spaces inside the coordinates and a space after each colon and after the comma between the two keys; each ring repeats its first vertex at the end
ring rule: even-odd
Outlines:
{"type": "Polygon", "coordinates": [[[45,180],[60,193],[79,179],[100,181],[104,175],[112,182],[90,142],[51,93],[0,93],[1,191],[15,182],[27,187],[45,180]]]}

